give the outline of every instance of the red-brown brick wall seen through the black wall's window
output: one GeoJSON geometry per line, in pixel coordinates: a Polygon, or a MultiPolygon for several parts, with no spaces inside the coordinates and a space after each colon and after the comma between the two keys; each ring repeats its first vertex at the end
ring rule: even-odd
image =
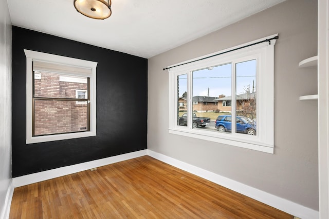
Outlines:
{"type": "MultiPolygon", "coordinates": [[[[75,99],[76,91],[87,90],[87,86],[87,78],[62,77],[56,73],[38,72],[34,76],[34,97],[75,99]]],[[[87,101],[34,101],[34,136],[86,131],[87,119],[87,101]]]]}

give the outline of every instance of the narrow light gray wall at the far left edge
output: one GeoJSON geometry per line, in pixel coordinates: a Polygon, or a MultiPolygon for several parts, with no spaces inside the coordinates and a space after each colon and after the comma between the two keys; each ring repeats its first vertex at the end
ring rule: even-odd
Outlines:
{"type": "Polygon", "coordinates": [[[11,21],[0,0],[0,217],[11,182],[11,21]]]}

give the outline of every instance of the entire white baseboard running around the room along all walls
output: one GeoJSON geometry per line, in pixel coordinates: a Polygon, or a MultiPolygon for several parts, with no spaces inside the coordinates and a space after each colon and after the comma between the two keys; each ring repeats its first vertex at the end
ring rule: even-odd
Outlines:
{"type": "Polygon", "coordinates": [[[11,204],[11,198],[13,195],[14,188],[25,186],[32,183],[37,183],[45,180],[50,180],[51,178],[56,178],[59,176],[64,176],[100,166],[105,166],[108,164],[113,164],[125,160],[129,160],[132,158],[136,158],[139,156],[149,155],[154,158],[156,158],[159,161],[165,162],[167,164],[170,164],[174,167],[177,167],[179,169],[185,170],[187,172],[190,172],[192,174],[195,174],[197,176],[200,176],[202,178],[205,178],[206,180],[209,180],[213,183],[216,183],[218,185],[224,186],[226,188],[229,188],[233,191],[239,192],[241,194],[244,194],[248,197],[253,198],[254,200],[260,201],[264,204],[267,204],[269,206],[272,206],[274,208],[277,208],[279,210],[282,210],[284,212],[287,212],[289,214],[298,216],[303,219],[315,219],[319,218],[319,212],[310,208],[307,208],[305,206],[296,204],[294,202],[285,200],[284,198],[272,195],[270,193],[261,191],[259,189],[255,189],[253,187],[247,186],[245,184],[236,182],[234,180],[231,180],[230,178],[212,173],[210,171],[198,168],[196,166],[181,162],[179,160],[176,160],[172,157],[151,151],[151,150],[141,150],[126,154],[121,154],[117,156],[112,157],[106,157],[100,160],[96,161],[90,161],[85,162],[81,164],[61,167],[57,169],[47,170],[43,172],[33,173],[29,175],[19,176],[12,179],[12,182],[10,183],[10,187],[8,188],[7,196],[6,196],[6,206],[4,209],[4,212],[1,216],[1,219],[7,219],[9,218],[9,211],[10,211],[10,204],[11,204]]]}

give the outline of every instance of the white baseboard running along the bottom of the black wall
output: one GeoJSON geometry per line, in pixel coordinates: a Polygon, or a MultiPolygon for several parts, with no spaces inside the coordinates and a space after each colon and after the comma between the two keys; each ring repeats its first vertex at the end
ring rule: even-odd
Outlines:
{"type": "Polygon", "coordinates": [[[139,156],[144,156],[144,155],[147,155],[146,149],[131,152],[131,153],[126,153],[126,154],[120,154],[117,156],[106,157],[106,158],[102,158],[99,160],[89,161],[89,162],[85,162],[85,163],[81,163],[81,164],[75,164],[75,165],[71,165],[71,166],[60,167],[57,169],[46,170],[46,171],[42,171],[42,172],[38,172],[38,173],[32,173],[29,175],[14,177],[12,179],[13,187],[16,188],[16,187],[20,187],[20,186],[29,185],[32,183],[38,183],[41,181],[50,180],[51,178],[56,178],[56,177],[60,177],[60,176],[64,176],[64,175],[68,175],[68,174],[72,174],[72,173],[77,173],[80,171],[89,170],[89,169],[93,169],[96,167],[101,167],[101,166],[105,166],[108,164],[117,163],[120,161],[126,161],[129,159],[136,158],[139,156]]]}

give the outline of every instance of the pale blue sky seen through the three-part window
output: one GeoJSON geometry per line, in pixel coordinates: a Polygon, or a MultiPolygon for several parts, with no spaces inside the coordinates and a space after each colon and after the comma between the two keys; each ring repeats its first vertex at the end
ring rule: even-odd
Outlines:
{"type": "MultiPolygon", "coordinates": [[[[252,92],[256,87],[256,60],[236,63],[236,94],[246,93],[248,86],[252,92]]],[[[212,68],[193,71],[193,96],[218,97],[223,94],[231,96],[232,64],[224,64],[212,68]]],[[[187,91],[187,74],[178,78],[179,96],[187,91]]]]}

